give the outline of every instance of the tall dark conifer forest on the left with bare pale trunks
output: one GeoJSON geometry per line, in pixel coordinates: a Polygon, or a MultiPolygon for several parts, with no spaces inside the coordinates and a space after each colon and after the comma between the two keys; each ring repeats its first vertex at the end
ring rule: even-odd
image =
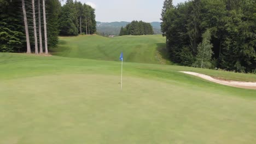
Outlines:
{"type": "Polygon", "coordinates": [[[95,9],[68,0],[0,0],[0,52],[48,53],[59,35],[94,34],[95,9]],[[39,50],[38,50],[39,45],[39,50]]]}

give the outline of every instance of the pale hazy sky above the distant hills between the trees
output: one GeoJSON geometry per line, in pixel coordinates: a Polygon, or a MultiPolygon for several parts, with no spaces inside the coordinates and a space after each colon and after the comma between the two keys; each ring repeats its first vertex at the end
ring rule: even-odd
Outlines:
{"type": "MultiPolygon", "coordinates": [[[[65,4],[66,0],[61,0],[65,4]]],[[[164,0],[77,0],[95,8],[96,21],[159,21],[164,0]]],[[[186,0],[173,0],[176,5],[186,0]]]]}

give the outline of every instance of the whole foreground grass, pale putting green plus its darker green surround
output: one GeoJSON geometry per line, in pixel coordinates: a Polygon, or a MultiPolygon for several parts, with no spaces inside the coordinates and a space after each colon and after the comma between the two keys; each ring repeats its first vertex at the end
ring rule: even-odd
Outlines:
{"type": "Polygon", "coordinates": [[[0,143],[255,143],[256,91],[177,70],[0,53],[0,143]]]}

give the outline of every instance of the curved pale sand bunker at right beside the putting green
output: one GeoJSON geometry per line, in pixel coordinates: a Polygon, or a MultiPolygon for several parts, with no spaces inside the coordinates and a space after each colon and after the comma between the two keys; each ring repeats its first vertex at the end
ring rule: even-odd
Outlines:
{"type": "Polygon", "coordinates": [[[256,82],[226,81],[226,80],[215,79],[215,78],[213,78],[211,76],[208,76],[208,75],[189,72],[189,71],[180,71],[180,72],[185,73],[185,74],[189,74],[189,75],[194,75],[194,76],[197,76],[197,77],[201,77],[202,79],[212,81],[212,82],[216,82],[216,83],[226,85],[226,86],[240,87],[240,88],[247,88],[247,89],[256,89],[256,82]]]}

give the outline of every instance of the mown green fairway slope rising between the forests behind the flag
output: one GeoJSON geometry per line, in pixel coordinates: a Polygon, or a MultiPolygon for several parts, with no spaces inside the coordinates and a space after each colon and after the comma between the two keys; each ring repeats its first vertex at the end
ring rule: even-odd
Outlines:
{"type": "Polygon", "coordinates": [[[99,35],[60,37],[60,45],[53,49],[57,56],[118,61],[124,52],[124,61],[139,63],[166,63],[160,52],[165,49],[162,35],[125,35],[106,38],[99,35]]]}

